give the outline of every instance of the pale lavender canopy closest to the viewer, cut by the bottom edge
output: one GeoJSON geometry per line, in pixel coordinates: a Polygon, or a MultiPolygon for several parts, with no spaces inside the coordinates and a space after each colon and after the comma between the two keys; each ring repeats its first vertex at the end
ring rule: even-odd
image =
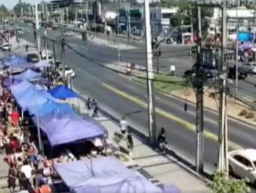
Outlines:
{"type": "Polygon", "coordinates": [[[54,167],[75,193],[163,193],[144,176],[129,170],[115,156],[55,163],[54,167]]]}

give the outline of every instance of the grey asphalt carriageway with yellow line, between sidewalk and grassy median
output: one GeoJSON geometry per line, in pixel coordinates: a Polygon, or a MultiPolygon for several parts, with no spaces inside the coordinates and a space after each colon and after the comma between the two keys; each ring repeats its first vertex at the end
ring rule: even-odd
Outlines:
{"type": "MultiPolygon", "coordinates": [[[[55,39],[60,37],[60,32],[48,32],[48,36],[55,39]]],[[[26,31],[24,38],[33,42],[32,31],[26,31]]],[[[67,38],[67,42],[75,50],[84,53],[87,58],[66,49],[66,65],[71,66],[77,74],[74,79],[75,88],[86,96],[93,96],[99,101],[100,105],[104,105],[105,108],[120,117],[127,114],[127,112],[141,110],[140,114],[131,115],[128,121],[138,126],[140,130],[147,132],[147,108],[145,107],[147,90],[145,86],[134,83],[130,79],[116,74],[116,72],[99,67],[95,63],[95,61],[115,61],[116,58],[111,58],[110,54],[115,50],[94,45],[93,43],[86,45],[73,37],[67,38]]],[[[50,43],[48,44],[51,46],[50,43]]],[[[60,51],[60,48],[57,48],[57,51],[60,51]]],[[[60,59],[60,53],[57,54],[57,57],[60,59]]],[[[195,107],[190,105],[188,112],[183,112],[183,101],[156,92],[156,108],[157,128],[166,128],[167,139],[170,144],[190,157],[193,162],[196,155],[196,133],[191,124],[195,122],[195,107]],[[185,120],[186,125],[180,119],[185,120]]],[[[204,118],[204,158],[205,163],[213,167],[214,163],[217,163],[218,116],[205,110],[204,118]]],[[[255,127],[231,120],[228,121],[228,125],[230,150],[240,148],[240,146],[243,148],[256,148],[255,127]]]]}

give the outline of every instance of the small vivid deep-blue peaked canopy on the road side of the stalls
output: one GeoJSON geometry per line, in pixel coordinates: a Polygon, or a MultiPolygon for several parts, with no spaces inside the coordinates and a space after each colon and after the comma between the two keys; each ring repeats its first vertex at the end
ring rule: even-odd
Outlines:
{"type": "Polygon", "coordinates": [[[55,88],[48,90],[48,92],[56,99],[68,99],[68,98],[79,98],[79,94],[73,92],[64,85],[57,85],[55,88]]]}

